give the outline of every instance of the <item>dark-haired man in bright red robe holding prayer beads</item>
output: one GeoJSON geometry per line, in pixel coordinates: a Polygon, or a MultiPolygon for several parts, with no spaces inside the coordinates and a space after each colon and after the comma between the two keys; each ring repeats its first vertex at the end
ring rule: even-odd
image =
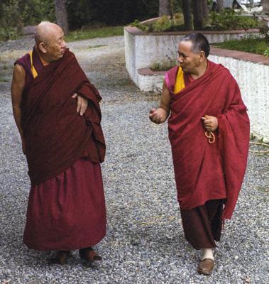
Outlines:
{"type": "Polygon", "coordinates": [[[186,35],[178,47],[179,66],[165,74],[160,107],[150,120],[168,119],[169,139],[187,241],[203,251],[198,272],[214,268],[212,249],[230,219],[246,170],[249,120],[234,77],[207,59],[201,33],[186,35]],[[223,208],[224,207],[224,208],[223,208]]]}

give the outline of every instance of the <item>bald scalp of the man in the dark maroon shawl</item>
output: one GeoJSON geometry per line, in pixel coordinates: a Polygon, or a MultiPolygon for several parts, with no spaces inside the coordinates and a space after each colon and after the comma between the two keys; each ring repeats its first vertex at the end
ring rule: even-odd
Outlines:
{"type": "Polygon", "coordinates": [[[55,33],[62,31],[56,23],[41,22],[35,29],[35,43],[50,43],[50,40],[55,36],[55,33]]]}

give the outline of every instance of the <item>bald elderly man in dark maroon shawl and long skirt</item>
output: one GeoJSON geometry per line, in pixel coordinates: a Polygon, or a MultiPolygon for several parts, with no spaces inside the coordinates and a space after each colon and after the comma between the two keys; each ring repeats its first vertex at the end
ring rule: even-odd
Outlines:
{"type": "Polygon", "coordinates": [[[15,62],[11,95],[31,179],[24,244],[57,251],[52,263],[74,249],[101,261],[92,249],[106,234],[101,97],[55,23],[37,26],[33,50],[15,62]]]}

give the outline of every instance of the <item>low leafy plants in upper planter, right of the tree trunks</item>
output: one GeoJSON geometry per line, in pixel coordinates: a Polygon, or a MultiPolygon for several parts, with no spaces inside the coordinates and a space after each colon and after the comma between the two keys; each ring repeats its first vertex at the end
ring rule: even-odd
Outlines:
{"type": "Polygon", "coordinates": [[[259,23],[251,16],[241,16],[234,13],[234,10],[224,10],[223,13],[211,12],[209,25],[205,29],[213,31],[229,31],[249,28],[258,28],[259,23]]]}

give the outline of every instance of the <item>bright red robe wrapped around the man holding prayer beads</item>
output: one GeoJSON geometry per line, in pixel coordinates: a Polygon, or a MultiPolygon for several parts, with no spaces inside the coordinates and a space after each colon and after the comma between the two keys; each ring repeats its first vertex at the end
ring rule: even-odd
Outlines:
{"type": "Polygon", "coordinates": [[[204,75],[175,94],[177,70],[168,71],[168,131],[178,202],[182,209],[192,209],[208,200],[226,200],[222,217],[230,219],[248,157],[246,106],[236,80],[222,65],[208,61],[204,75]],[[219,121],[215,143],[209,143],[205,136],[205,115],[216,116],[219,121]]]}

